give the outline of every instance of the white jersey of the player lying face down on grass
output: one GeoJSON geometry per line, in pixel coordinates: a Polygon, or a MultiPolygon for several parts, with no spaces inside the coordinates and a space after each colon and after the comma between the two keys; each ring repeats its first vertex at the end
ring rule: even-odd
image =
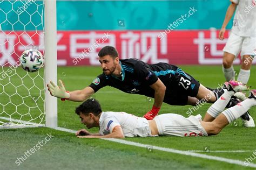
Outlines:
{"type": "Polygon", "coordinates": [[[137,117],[126,112],[102,112],[99,118],[99,133],[106,135],[113,129],[121,126],[125,137],[147,137],[152,136],[147,119],[137,117]]]}

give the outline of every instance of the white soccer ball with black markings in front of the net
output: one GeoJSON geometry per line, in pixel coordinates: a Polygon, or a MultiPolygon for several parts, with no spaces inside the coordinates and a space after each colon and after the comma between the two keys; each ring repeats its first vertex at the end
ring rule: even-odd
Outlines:
{"type": "Polygon", "coordinates": [[[43,55],[37,49],[27,49],[21,54],[19,60],[22,68],[27,72],[36,72],[44,64],[43,55]]]}

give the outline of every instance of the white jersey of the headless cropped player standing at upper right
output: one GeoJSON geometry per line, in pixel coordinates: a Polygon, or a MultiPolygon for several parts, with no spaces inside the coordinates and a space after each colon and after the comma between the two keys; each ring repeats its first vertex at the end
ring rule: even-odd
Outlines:
{"type": "Polygon", "coordinates": [[[255,0],[231,0],[237,4],[232,32],[241,37],[256,37],[255,0]]]}

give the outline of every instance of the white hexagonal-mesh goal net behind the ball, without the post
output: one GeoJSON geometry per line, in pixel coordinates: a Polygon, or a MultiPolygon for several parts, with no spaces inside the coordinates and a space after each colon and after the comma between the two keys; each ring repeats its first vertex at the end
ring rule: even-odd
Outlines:
{"type": "Polygon", "coordinates": [[[44,6],[44,1],[0,1],[0,128],[46,123],[45,67],[29,73],[19,62],[30,48],[47,57],[44,6]]]}

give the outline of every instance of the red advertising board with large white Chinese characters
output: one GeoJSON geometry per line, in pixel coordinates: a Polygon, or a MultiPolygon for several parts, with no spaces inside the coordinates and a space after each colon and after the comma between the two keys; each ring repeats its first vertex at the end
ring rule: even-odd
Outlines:
{"type": "MultiPolygon", "coordinates": [[[[147,63],[173,65],[220,65],[227,41],[218,31],[58,31],[58,65],[99,65],[98,52],[106,46],[117,48],[120,59],[137,58],[147,63]]],[[[43,32],[1,32],[0,65],[15,65],[28,48],[43,52],[43,32]]],[[[51,57],[51,56],[45,56],[51,57]]],[[[236,64],[240,59],[235,60],[236,64]]],[[[254,61],[255,63],[255,61],[254,61]]]]}

